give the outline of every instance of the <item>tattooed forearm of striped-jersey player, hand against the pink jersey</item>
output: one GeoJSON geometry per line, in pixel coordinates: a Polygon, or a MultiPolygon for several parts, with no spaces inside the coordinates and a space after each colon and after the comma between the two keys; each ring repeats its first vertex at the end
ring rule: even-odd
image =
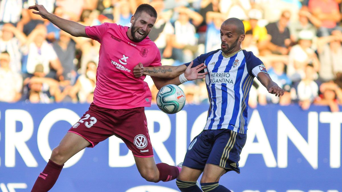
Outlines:
{"type": "MultiPolygon", "coordinates": [[[[193,61],[191,61],[192,65],[193,61]]],[[[206,66],[202,63],[196,66],[196,70],[204,69],[206,66]]],[[[139,63],[133,68],[133,73],[136,78],[139,78],[143,75],[148,75],[151,77],[158,77],[158,78],[166,78],[172,79],[178,77],[180,74],[184,73],[186,70],[186,65],[179,65],[179,66],[159,66],[159,67],[144,67],[143,64],[139,63]]]]}

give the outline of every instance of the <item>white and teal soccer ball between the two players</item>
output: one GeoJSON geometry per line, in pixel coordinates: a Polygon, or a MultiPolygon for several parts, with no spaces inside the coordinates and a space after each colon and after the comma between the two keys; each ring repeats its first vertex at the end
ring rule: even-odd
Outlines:
{"type": "Polygon", "coordinates": [[[157,93],[157,105],[165,113],[173,114],[183,109],[185,96],[177,85],[165,85],[157,93]]]}

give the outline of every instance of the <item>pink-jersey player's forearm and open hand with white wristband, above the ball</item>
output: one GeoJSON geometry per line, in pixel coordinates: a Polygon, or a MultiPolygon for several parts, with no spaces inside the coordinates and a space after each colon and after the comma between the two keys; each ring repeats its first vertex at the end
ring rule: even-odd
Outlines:
{"type": "MultiPolygon", "coordinates": [[[[186,67],[185,71],[184,71],[184,77],[188,80],[196,80],[196,79],[202,79],[206,77],[206,74],[208,72],[204,72],[204,73],[198,73],[199,71],[201,71],[202,69],[205,68],[205,66],[199,67],[193,67],[192,68],[192,64],[193,62],[190,63],[190,65],[188,67],[186,67]]],[[[184,65],[185,66],[185,65],[184,65]]],[[[154,82],[154,84],[156,85],[157,89],[159,90],[162,86],[168,85],[168,84],[174,84],[174,85],[180,85],[182,84],[179,76],[172,78],[172,79],[165,79],[165,78],[158,78],[158,77],[152,77],[152,80],[154,82]]]]}

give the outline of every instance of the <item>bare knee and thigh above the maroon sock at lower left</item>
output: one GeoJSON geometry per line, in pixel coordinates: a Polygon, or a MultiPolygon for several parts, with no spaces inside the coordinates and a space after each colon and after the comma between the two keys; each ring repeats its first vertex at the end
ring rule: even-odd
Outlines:
{"type": "Polygon", "coordinates": [[[53,150],[51,160],[55,163],[64,164],[68,159],[89,145],[90,142],[83,137],[68,132],[60,144],[53,150]]]}

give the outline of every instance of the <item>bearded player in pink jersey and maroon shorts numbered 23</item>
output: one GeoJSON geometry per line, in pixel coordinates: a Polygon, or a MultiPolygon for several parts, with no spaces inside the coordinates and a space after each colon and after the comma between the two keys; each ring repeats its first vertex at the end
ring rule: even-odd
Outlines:
{"type": "MultiPolygon", "coordinates": [[[[50,20],[75,37],[88,37],[101,43],[94,101],[89,110],[75,123],[60,144],[52,150],[47,166],[38,176],[32,191],[49,191],[61,173],[64,163],[86,147],[94,147],[108,137],[121,138],[132,151],[143,178],[151,182],[170,181],[179,175],[180,167],[156,164],[150,142],[144,107],[150,107],[151,92],[144,78],[135,78],[133,68],[139,63],[160,66],[160,53],[147,35],[156,18],[156,10],[142,4],[131,17],[131,27],[114,23],[86,27],[48,13],[44,6],[34,5],[33,13],[50,20]]],[[[184,71],[187,80],[204,78],[198,73],[204,67],[184,71]]],[[[154,78],[157,85],[165,81],[154,78]]]]}

